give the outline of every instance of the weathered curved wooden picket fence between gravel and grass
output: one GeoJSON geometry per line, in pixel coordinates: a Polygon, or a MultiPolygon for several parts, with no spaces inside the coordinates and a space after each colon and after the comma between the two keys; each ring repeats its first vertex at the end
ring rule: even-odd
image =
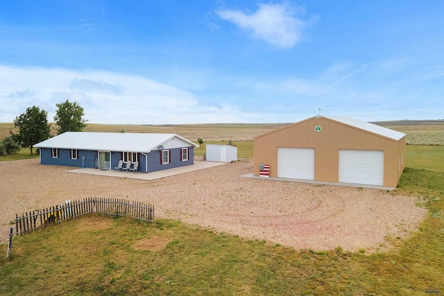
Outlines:
{"type": "Polygon", "coordinates": [[[86,214],[104,214],[126,216],[137,220],[153,222],[154,206],[144,202],[114,198],[86,198],[84,200],[65,201],[54,207],[15,215],[15,234],[24,234],[40,227],[62,220],[77,218],[86,214]]]}

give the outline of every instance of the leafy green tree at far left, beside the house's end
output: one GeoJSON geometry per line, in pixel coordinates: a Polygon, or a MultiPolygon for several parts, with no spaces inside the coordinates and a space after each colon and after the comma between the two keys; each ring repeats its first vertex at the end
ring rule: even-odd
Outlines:
{"type": "Polygon", "coordinates": [[[33,155],[33,145],[51,137],[51,124],[48,123],[48,112],[40,107],[28,107],[26,113],[15,117],[14,125],[19,128],[17,134],[10,131],[12,140],[23,148],[30,148],[33,155]]]}

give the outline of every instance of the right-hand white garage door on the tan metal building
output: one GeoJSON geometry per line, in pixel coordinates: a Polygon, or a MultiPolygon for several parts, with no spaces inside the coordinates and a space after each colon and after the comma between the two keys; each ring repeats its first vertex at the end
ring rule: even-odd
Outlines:
{"type": "Polygon", "coordinates": [[[339,182],[384,185],[384,151],[339,150],[339,182]]]}

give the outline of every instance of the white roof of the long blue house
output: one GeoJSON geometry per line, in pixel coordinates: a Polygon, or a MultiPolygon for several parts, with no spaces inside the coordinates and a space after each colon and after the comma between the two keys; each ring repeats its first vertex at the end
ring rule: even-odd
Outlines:
{"type": "Polygon", "coordinates": [[[34,147],[148,153],[151,150],[158,150],[157,146],[163,145],[173,138],[185,141],[190,146],[198,147],[196,143],[177,134],[126,132],[64,132],[56,137],[37,143],[34,147]]]}

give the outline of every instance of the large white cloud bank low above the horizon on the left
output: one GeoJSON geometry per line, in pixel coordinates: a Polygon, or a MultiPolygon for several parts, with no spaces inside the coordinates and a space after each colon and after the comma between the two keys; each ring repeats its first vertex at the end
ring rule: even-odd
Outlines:
{"type": "Polygon", "coordinates": [[[56,103],[76,101],[89,123],[250,122],[257,116],[141,76],[107,71],[0,66],[0,122],[36,105],[53,121],[56,103]]]}

